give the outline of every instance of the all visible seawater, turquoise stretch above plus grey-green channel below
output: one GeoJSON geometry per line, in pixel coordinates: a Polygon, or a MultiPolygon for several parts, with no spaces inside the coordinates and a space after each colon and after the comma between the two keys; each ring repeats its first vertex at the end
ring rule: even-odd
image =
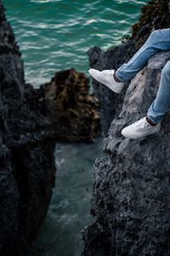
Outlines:
{"type": "MultiPolygon", "coordinates": [[[[56,71],[71,67],[88,74],[87,50],[120,44],[146,2],[3,0],[26,81],[38,87],[56,71]]],[[[102,155],[102,138],[94,144],[56,144],[54,194],[31,256],[80,256],[81,230],[92,221],[94,160],[102,155]]]]}

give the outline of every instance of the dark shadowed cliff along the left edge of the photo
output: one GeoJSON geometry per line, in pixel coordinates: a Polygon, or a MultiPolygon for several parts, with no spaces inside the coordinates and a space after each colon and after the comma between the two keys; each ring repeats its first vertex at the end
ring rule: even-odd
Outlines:
{"type": "Polygon", "coordinates": [[[0,1],[0,255],[26,255],[54,186],[54,134],[38,110],[0,1]]]}

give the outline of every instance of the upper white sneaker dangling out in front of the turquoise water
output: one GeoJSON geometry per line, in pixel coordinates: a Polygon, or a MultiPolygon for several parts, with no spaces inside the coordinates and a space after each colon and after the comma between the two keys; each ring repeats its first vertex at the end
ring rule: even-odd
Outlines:
{"type": "Polygon", "coordinates": [[[120,82],[116,82],[116,80],[114,79],[114,73],[115,70],[103,70],[103,71],[99,71],[97,69],[94,68],[90,68],[88,70],[88,73],[91,74],[91,76],[96,79],[99,83],[105,84],[108,88],[110,88],[111,90],[113,90],[116,93],[121,93],[122,89],[124,87],[124,83],[120,82]]]}

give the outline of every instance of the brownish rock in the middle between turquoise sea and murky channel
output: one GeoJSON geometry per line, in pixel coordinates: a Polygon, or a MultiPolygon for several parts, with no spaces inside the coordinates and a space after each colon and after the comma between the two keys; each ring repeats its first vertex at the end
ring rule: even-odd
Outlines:
{"type": "Polygon", "coordinates": [[[92,142],[101,135],[99,101],[88,93],[88,79],[69,69],[55,73],[39,90],[41,108],[54,119],[54,135],[62,142],[92,142]]]}

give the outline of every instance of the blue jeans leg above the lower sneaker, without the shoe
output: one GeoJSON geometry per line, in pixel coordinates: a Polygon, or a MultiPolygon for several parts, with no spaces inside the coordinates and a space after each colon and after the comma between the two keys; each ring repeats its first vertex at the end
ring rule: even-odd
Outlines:
{"type": "Polygon", "coordinates": [[[157,124],[163,119],[165,113],[170,108],[170,61],[161,72],[161,82],[157,91],[156,100],[151,104],[147,116],[157,124]]]}

